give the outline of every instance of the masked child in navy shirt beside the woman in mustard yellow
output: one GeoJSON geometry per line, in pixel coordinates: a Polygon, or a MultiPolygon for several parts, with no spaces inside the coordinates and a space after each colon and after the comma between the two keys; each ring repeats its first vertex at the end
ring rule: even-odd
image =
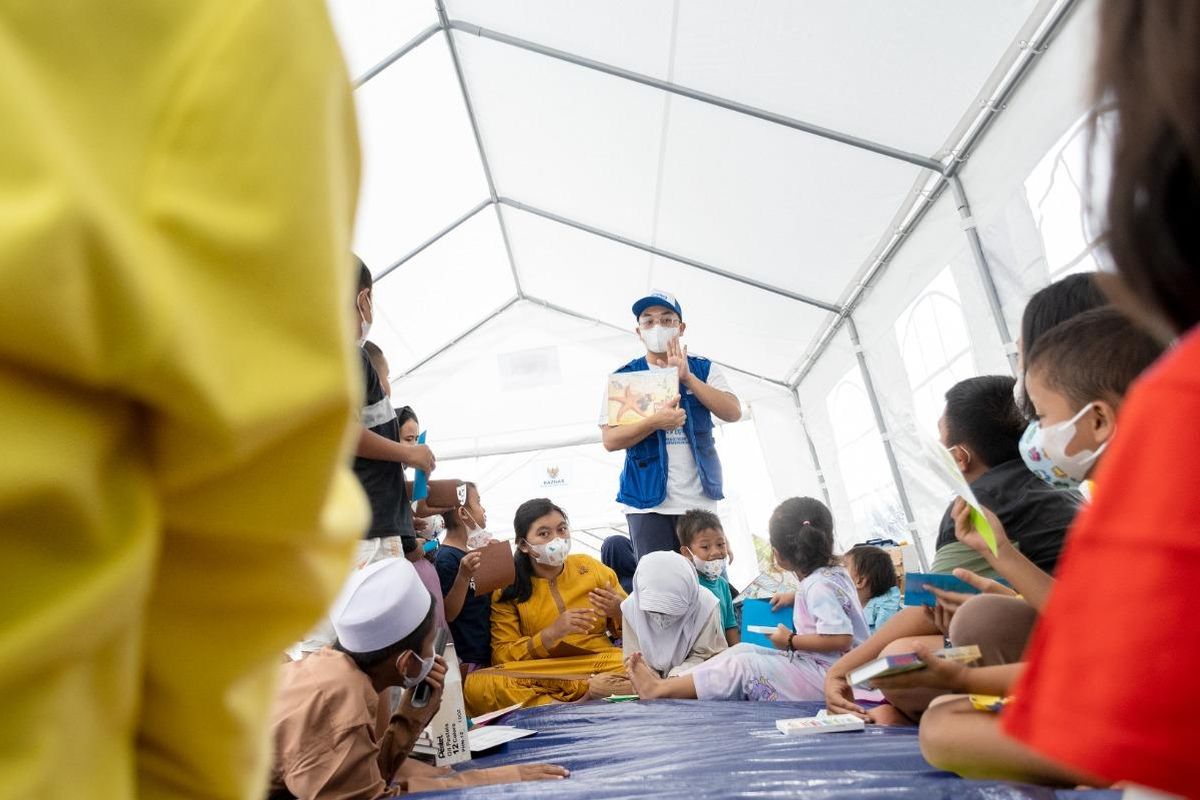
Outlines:
{"type": "Polygon", "coordinates": [[[487,594],[476,595],[474,582],[481,559],[479,548],[492,536],[474,483],[457,483],[454,499],[455,507],[443,515],[445,537],[433,557],[433,566],[445,599],[455,654],[467,674],[492,663],[492,599],[487,594]]]}

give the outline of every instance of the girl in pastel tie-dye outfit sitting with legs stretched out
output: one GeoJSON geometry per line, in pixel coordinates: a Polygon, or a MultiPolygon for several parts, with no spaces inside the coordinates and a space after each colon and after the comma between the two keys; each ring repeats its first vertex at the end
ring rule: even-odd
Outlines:
{"type": "Polygon", "coordinates": [[[770,517],[775,560],[796,572],[793,621],[770,634],[774,650],[738,644],[677,678],[659,678],[643,654],[628,662],[642,699],[816,700],[826,669],[868,637],[854,584],[833,554],[833,519],[812,498],[785,500],[770,517]]]}

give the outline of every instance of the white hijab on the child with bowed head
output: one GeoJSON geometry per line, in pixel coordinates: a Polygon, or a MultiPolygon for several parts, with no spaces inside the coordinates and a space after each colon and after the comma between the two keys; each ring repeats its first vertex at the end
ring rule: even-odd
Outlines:
{"type": "Polygon", "coordinates": [[[666,673],[688,657],[716,608],[716,597],[701,589],[696,570],[678,553],[648,553],[637,563],[634,591],[620,604],[624,624],[634,628],[646,662],[666,673]],[[666,630],[650,624],[646,612],[678,618],[666,630]]]}

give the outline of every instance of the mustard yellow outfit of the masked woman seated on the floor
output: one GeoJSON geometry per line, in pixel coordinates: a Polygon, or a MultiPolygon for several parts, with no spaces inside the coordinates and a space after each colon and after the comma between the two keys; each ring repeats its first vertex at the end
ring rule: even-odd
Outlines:
{"type": "Polygon", "coordinates": [[[612,589],[625,597],[616,572],[581,554],[568,555],[557,578],[533,578],[533,594],[523,603],[502,602],[503,590],[493,593],[492,666],[467,675],[467,714],[478,716],[517,703],[569,703],[588,694],[593,675],[623,675],[620,648],[608,638],[610,630],[620,636],[619,619],[596,616],[590,630],[570,633],[548,650],[542,640],[541,631],[568,608],[592,608],[588,595],[593,589],[612,589]]]}

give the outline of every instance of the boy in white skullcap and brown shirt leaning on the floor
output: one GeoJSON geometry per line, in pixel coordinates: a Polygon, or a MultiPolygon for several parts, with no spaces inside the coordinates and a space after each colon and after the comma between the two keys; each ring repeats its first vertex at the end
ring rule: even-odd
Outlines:
{"type": "Polygon", "coordinates": [[[433,603],[413,565],[354,570],[329,613],[337,643],[282,667],[271,727],[271,796],[388,798],[406,792],[566,777],[551,764],[452,772],[406,762],[442,703],[446,663],[433,654],[433,603]],[[425,708],[412,690],[427,681],[425,708]],[[380,692],[403,702],[378,723],[380,692]],[[382,729],[380,729],[382,728],[382,729]]]}

